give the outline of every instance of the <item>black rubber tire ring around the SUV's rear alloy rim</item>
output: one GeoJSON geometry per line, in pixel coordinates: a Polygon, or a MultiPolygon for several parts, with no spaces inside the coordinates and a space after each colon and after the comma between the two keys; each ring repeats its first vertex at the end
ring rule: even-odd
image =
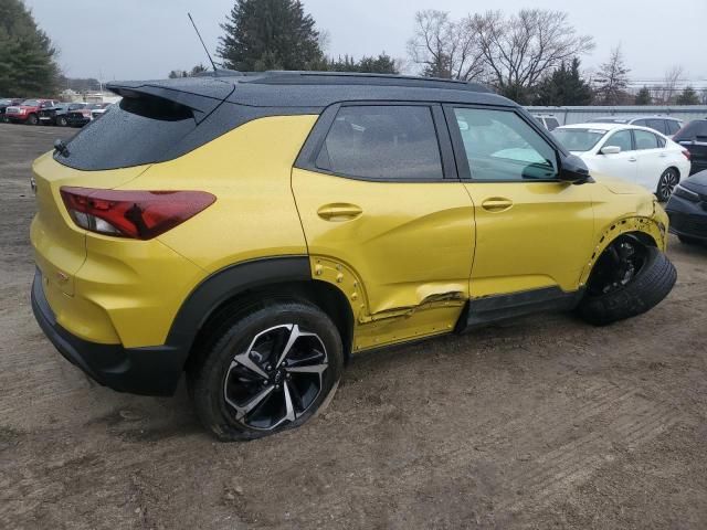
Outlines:
{"type": "Polygon", "coordinates": [[[200,367],[193,381],[197,412],[204,425],[219,438],[255,439],[306,423],[317,413],[341,377],[344,353],[336,326],[317,308],[304,304],[267,306],[221,328],[221,335],[200,367]],[[226,371],[233,357],[244,351],[260,332],[284,324],[296,324],[319,336],[327,351],[329,367],[323,374],[321,391],[309,409],[297,420],[272,431],[258,431],[236,422],[223,396],[226,371]]]}

